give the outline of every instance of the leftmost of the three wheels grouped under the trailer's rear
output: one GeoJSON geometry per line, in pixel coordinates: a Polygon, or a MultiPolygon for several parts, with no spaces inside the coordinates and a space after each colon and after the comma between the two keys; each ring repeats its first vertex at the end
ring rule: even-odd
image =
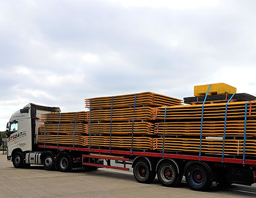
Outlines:
{"type": "Polygon", "coordinates": [[[156,172],[150,170],[146,160],[141,159],[136,162],[133,168],[133,176],[139,183],[152,183],[156,178],[156,172]]]}

